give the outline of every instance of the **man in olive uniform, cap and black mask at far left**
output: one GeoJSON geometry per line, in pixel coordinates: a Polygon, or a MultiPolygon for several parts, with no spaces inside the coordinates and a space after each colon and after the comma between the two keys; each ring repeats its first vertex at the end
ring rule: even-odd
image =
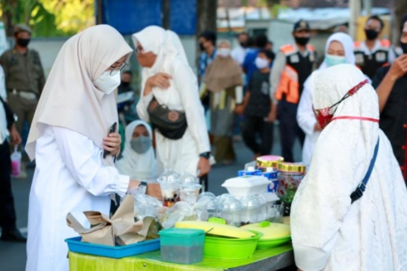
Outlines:
{"type": "MultiPolygon", "coordinates": [[[[8,103],[18,117],[17,131],[21,134],[23,122],[31,125],[34,112],[45,84],[44,71],[37,51],[27,48],[31,29],[18,24],[14,29],[14,48],[0,56],[6,76],[8,103]]],[[[26,158],[25,158],[26,159],[26,158]]],[[[20,178],[25,178],[25,164],[21,164],[20,178]]]]}

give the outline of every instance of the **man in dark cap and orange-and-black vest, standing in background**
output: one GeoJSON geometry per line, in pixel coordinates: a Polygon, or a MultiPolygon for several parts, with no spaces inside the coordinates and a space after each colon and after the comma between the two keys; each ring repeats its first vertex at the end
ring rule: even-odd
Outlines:
{"type": "Polygon", "coordinates": [[[270,75],[270,95],[276,106],[272,106],[269,118],[274,121],[277,115],[282,156],[287,162],[294,162],[293,146],[296,138],[300,139],[301,145],[304,143],[305,134],[298,126],[296,115],[303,84],[315,63],[315,50],[308,44],[310,27],[306,21],[295,23],[293,37],[295,44],[280,48],[270,75]]]}

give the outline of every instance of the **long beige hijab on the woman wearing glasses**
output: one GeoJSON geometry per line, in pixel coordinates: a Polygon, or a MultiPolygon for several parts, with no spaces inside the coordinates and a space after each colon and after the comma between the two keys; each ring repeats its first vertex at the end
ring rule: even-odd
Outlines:
{"type": "Polygon", "coordinates": [[[25,150],[35,159],[36,140],[44,124],[71,129],[103,148],[103,137],[118,121],[114,92],[93,84],[106,69],[133,50],[109,25],[96,25],[62,46],[45,83],[25,150]]]}

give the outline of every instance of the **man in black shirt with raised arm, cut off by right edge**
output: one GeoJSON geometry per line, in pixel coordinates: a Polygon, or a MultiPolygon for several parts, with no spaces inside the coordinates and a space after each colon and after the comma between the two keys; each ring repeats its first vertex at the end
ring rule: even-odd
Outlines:
{"type": "Polygon", "coordinates": [[[401,20],[403,54],[373,78],[379,97],[380,128],[389,138],[394,155],[407,181],[407,14],[401,20]]]}

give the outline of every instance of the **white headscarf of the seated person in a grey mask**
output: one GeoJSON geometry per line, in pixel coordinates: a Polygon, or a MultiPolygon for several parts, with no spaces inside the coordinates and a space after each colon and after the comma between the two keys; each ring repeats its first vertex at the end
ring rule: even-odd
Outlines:
{"type": "Polygon", "coordinates": [[[153,139],[153,133],[150,126],[143,121],[134,121],[127,125],[125,132],[125,145],[123,158],[117,163],[119,172],[123,175],[129,175],[131,179],[144,181],[157,178],[157,160],[154,155],[154,149],[151,147],[144,154],[137,154],[131,148],[131,140],[134,129],[138,126],[144,126],[149,132],[150,139],[153,139]]]}

